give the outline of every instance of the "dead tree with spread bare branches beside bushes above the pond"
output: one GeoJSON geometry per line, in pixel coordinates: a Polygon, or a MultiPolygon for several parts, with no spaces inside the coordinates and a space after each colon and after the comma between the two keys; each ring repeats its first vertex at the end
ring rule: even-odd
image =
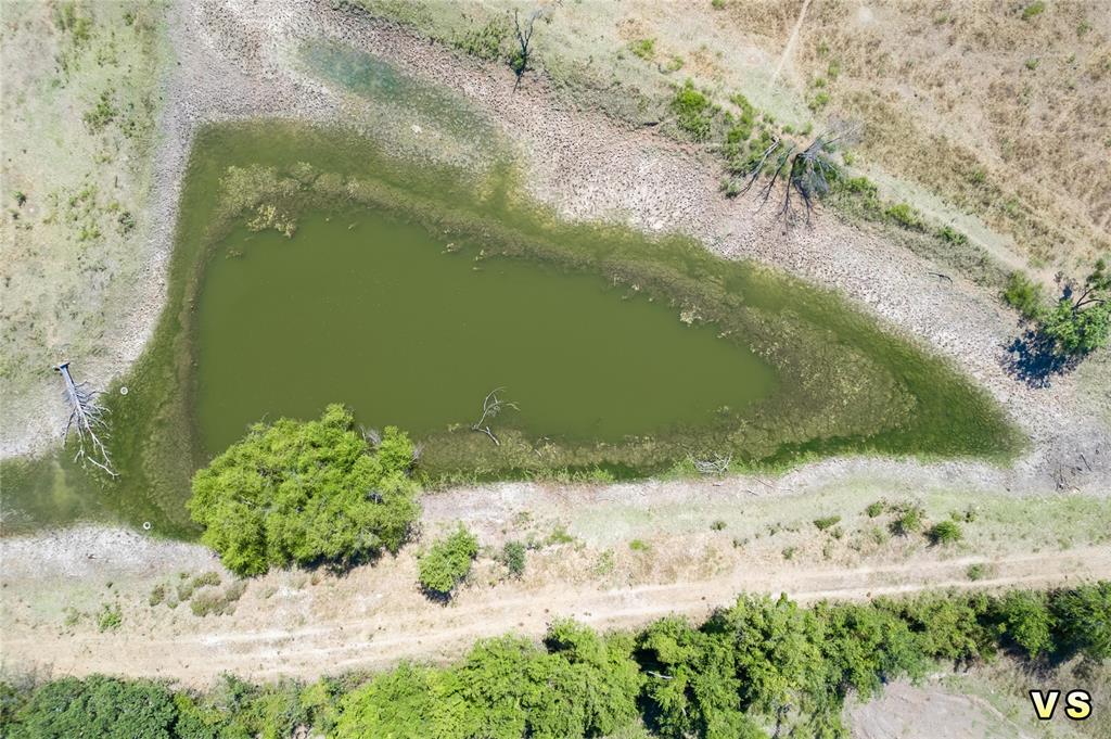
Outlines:
{"type": "Polygon", "coordinates": [[[760,204],[763,207],[771,200],[775,186],[782,181],[783,196],[779,216],[784,221],[791,222],[801,201],[809,223],[814,202],[829,194],[833,181],[840,173],[840,167],[833,160],[835,146],[851,132],[852,129],[828,131],[805,148],[782,137],[773,138],[771,143],[754,154],[748,167],[741,170],[738,179],[744,184],[738,194],[751,190],[764,174],[767,179],[759,189],[760,204]]]}

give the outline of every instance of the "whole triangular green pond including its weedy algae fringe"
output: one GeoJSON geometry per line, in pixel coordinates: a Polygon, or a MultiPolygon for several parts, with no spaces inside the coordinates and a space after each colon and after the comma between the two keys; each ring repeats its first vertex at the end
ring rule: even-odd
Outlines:
{"type": "Polygon", "coordinates": [[[834,293],[679,234],[560,220],[489,131],[464,146],[473,111],[438,129],[463,103],[431,99],[400,127],[388,107],[372,131],[198,136],[167,307],[106,395],[120,477],[64,453],[6,462],[4,532],[91,519],[194,536],[183,503],[199,467],[253,422],[330,402],[413,435],[431,487],[1021,448],[983,391],[834,293]],[[413,159],[419,138],[383,142],[408,120],[466,163],[413,159]],[[496,388],[516,406],[489,421],[500,443],[471,428],[496,388]]]}

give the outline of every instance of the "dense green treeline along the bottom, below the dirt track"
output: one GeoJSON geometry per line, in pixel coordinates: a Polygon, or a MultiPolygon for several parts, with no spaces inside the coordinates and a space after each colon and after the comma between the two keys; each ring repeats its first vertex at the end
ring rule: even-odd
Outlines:
{"type": "Polygon", "coordinates": [[[855,691],[1008,651],[1044,662],[1111,658],[1111,582],[1049,593],[929,595],[804,609],[742,597],[701,626],[678,617],[639,633],[551,625],[542,645],[479,642],[453,667],[402,663],[369,678],[262,688],[228,677],[212,691],[94,676],[3,685],[11,739],[568,739],[658,736],[842,737],[855,691]],[[650,733],[649,733],[650,732],[650,733]]]}

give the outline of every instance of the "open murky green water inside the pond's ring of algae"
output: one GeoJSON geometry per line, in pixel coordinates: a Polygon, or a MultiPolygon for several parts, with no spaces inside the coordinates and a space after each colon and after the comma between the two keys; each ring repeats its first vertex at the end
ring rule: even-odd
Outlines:
{"type": "Polygon", "coordinates": [[[705,426],[773,388],[771,368],[713,327],[600,276],[448,243],[371,210],[306,218],[292,239],[231,234],[198,300],[204,448],[337,400],[427,437],[473,423],[497,387],[519,410],[496,432],[620,441],[705,426]]]}

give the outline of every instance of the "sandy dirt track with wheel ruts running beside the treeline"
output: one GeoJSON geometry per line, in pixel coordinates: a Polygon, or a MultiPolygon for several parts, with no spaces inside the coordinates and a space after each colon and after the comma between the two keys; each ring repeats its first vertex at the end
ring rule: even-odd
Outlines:
{"type": "Polygon", "coordinates": [[[159,676],[197,686],[210,683],[226,671],[253,679],[311,679],[380,668],[401,659],[454,659],[476,639],[508,632],[538,637],[552,619],[561,617],[603,629],[634,627],[669,613],[699,619],[729,605],[740,591],[785,592],[808,602],[859,600],[927,588],[1045,587],[1107,577],[1111,549],[1004,557],[993,560],[991,579],[970,581],[967,568],[982,561],[979,557],[944,561],[917,558],[898,565],[804,569],[779,562],[737,568],[702,580],[618,588],[557,583],[529,590],[501,583],[469,588],[446,607],[424,601],[411,580],[401,585],[392,578],[388,570],[397,568],[374,568],[378,572],[371,577],[378,581],[351,583],[354,592],[342,582],[332,582],[308,588],[319,592],[279,588],[277,595],[267,595],[252,583],[244,601],[248,608],[257,609],[250,605],[252,597],[274,598],[266,609],[271,616],[284,613],[278,620],[271,618],[269,626],[237,620],[232,628],[231,620],[210,617],[191,619],[184,627],[163,623],[147,630],[140,627],[100,633],[93,629],[59,631],[17,618],[6,625],[3,663],[22,669],[33,666],[54,675],[159,676]],[[281,603],[282,598],[290,601],[288,606],[281,603]],[[399,610],[399,603],[404,610],[399,610]]]}

